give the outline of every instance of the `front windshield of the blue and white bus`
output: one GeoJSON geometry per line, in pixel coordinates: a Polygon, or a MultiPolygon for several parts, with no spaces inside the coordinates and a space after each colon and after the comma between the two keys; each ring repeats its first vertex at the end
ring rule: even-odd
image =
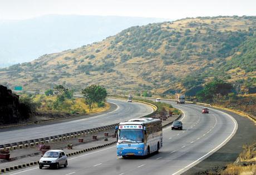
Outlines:
{"type": "Polygon", "coordinates": [[[143,142],[143,130],[142,129],[120,129],[118,142],[119,143],[143,142]]]}

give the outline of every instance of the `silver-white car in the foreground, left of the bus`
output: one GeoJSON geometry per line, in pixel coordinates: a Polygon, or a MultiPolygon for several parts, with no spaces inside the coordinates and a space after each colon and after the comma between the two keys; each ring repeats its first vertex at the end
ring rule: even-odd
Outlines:
{"type": "Polygon", "coordinates": [[[60,168],[60,166],[67,167],[67,156],[63,150],[47,151],[39,161],[39,168],[60,168]]]}

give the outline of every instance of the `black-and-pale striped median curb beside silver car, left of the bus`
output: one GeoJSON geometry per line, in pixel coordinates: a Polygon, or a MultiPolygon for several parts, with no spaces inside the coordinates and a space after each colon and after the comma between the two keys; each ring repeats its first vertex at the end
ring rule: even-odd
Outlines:
{"type": "MultiPolygon", "coordinates": [[[[102,144],[102,145],[96,146],[96,147],[90,147],[90,148],[86,148],[86,149],[81,149],[80,151],[75,151],[75,152],[72,152],[72,153],[68,153],[68,154],[66,154],[66,156],[67,157],[76,156],[78,154],[82,154],[82,153],[85,153],[85,152],[93,151],[95,149],[108,147],[108,146],[111,146],[111,145],[113,145],[115,143],[116,143],[116,141],[115,142],[106,143],[106,144],[102,144]]],[[[36,166],[37,164],[39,164],[39,161],[18,164],[17,166],[3,168],[3,169],[1,169],[0,173],[2,174],[2,173],[10,172],[12,170],[17,170],[17,169],[21,169],[21,168],[30,167],[30,166],[36,166]]]]}

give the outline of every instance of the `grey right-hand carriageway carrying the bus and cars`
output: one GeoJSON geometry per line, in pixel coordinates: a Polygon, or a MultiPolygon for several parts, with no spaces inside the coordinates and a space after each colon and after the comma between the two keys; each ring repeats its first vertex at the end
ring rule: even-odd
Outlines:
{"type": "Polygon", "coordinates": [[[202,114],[203,107],[166,102],[184,112],[180,118],[184,129],[164,128],[164,145],[158,154],[123,159],[112,146],[71,157],[67,168],[32,167],[11,174],[181,174],[221,148],[237,131],[237,122],[227,113],[209,108],[209,114],[202,114]]]}

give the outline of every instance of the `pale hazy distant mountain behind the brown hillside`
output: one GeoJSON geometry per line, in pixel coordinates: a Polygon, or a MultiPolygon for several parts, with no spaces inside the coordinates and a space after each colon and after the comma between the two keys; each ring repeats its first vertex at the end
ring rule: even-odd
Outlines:
{"type": "Polygon", "coordinates": [[[101,41],[127,27],[163,21],[160,18],[78,15],[0,21],[0,67],[101,41]]]}

